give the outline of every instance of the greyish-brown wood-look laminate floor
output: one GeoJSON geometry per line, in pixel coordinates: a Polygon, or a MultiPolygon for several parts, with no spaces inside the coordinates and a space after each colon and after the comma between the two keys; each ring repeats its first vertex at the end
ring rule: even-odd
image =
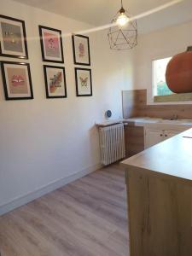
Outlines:
{"type": "Polygon", "coordinates": [[[1,256],[128,256],[124,172],[91,173],[0,217],[1,256]]]}

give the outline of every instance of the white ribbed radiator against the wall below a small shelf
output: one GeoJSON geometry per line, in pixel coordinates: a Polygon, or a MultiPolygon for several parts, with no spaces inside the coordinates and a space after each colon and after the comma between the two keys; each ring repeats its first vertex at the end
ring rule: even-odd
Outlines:
{"type": "Polygon", "coordinates": [[[123,124],[100,127],[99,139],[102,165],[108,166],[125,157],[123,124]]]}

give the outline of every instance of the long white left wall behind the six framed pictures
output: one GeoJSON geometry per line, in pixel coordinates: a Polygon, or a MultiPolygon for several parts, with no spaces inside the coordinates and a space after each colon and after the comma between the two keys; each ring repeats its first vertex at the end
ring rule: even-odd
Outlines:
{"type": "MultiPolygon", "coordinates": [[[[134,55],[109,50],[107,32],[90,34],[93,96],[76,97],[72,42],[70,37],[64,38],[67,99],[46,99],[38,25],[61,29],[63,33],[90,26],[9,0],[1,0],[0,9],[1,15],[26,21],[29,53],[26,62],[31,65],[34,93],[34,100],[6,102],[0,76],[1,213],[25,202],[24,199],[9,205],[15,199],[98,167],[95,121],[102,121],[108,108],[112,109],[114,119],[122,116],[121,90],[132,88],[134,55]]],[[[1,60],[18,61],[3,57],[1,60]]],[[[28,196],[27,200],[34,196],[28,196]]]]}

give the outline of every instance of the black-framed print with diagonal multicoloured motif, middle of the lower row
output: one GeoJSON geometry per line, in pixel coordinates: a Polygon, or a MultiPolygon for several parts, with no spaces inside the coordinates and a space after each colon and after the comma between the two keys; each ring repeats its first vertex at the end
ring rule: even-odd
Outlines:
{"type": "Polygon", "coordinates": [[[44,81],[47,98],[67,98],[65,67],[44,65],[44,81]]]}

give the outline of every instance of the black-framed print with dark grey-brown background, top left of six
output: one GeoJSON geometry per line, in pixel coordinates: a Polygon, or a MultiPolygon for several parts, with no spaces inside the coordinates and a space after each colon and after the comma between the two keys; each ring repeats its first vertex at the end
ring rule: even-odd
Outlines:
{"type": "Polygon", "coordinates": [[[0,55],[28,59],[26,27],[23,20],[0,15],[0,55]]]}

